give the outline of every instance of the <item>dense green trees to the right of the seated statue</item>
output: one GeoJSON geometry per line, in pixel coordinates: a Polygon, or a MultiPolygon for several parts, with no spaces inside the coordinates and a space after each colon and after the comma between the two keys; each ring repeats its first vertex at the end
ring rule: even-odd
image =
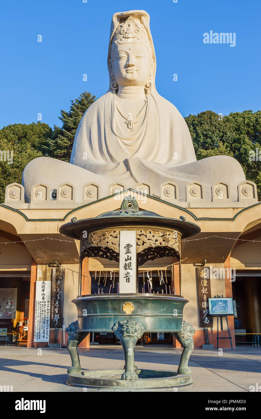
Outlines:
{"type": "Polygon", "coordinates": [[[261,161],[250,159],[251,150],[256,153],[257,148],[261,152],[261,111],[231,112],[224,117],[206,111],[186,116],[185,121],[197,160],[214,155],[234,157],[245,177],[256,183],[261,199],[261,161]]]}

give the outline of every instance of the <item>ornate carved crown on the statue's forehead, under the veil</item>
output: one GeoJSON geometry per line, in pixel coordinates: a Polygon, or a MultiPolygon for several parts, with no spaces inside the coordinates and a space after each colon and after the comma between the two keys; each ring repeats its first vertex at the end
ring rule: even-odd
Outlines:
{"type": "Polygon", "coordinates": [[[120,23],[117,26],[112,42],[117,41],[118,39],[139,39],[139,37],[145,38],[146,41],[149,40],[146,29],[144,25],[140,23],[140,19],[133,19],[132,16],[129,16],[124,23],[120,23]]]}

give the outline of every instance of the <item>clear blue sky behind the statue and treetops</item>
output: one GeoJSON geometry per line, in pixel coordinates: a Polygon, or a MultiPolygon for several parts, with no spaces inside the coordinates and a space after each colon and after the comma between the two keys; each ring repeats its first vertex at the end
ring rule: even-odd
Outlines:
{"type": "Polygon", "coordinates": [[[150,14],[156,87],[183,116],[261,109],[260,0],[12,0],[0,6],[0,128],[39,113],[60,125],[70,99],[103,95],[111,17],[129,9],[150,14]],[[235,47],[204,44],[211,30],[235,32],[235,47]]]}

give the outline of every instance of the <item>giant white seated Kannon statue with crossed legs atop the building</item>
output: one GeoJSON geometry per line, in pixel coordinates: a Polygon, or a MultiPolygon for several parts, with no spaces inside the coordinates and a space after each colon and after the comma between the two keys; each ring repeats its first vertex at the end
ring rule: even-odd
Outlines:
{"type": "MultiPolygon", "coordinates": [[[[37,183],[57,188],[70,182],[81,190],[88,182],[100,186],[99,197],[109,195],[109,185],[133,188],[150,185],[160,196],[160,185],[178,184],[185,200],[186,185],[205,185],[211,200],[214,182],[229,183],[237,200],[237,186],[245,180],[237,160],[229,156],[196,161],[185,120],[155,88],[156,57],[143,10],[115,13],[108,52],[109,90],[85,112],[73,143],[70,163],[48,157],[32,160],[23,171],[27,200],[37,183]]],[[[80,194],[80,192],[79,192],[80,194]]]]}

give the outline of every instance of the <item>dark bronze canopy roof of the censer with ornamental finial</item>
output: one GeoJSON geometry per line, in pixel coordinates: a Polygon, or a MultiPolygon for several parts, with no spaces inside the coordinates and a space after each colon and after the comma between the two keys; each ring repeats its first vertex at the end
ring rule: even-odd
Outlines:
{"type": "Polygon", "coordinates": [[[125,197],[121,203],[121,209],[115,211],[104,212],[101,215],[85,220],[77,220],[72,218],[72,222],[62,225],[59,233],[79,240],[82,238],[83,230],[88,232],[102,230],[103,228],[113,228],[119,226],[155,226],[157,228],[169,228],[178,230],[182,238],[191,237],[200,233],[201,229],[198,225],[190,221],[185,221],[184,217],[180,219],[162,217],[152,211],[143,211],[139,209],[137,201],[134,197],[125,197]]]}

